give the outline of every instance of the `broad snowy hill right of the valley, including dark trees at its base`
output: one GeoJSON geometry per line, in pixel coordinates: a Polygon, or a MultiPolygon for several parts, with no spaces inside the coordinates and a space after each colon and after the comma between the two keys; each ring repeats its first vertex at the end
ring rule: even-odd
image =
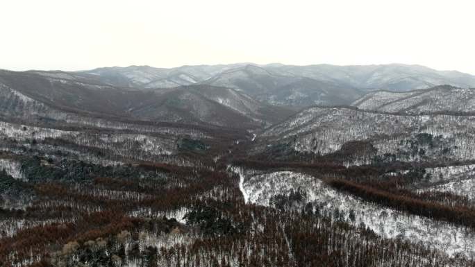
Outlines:
{"type": "Polygon", "coordinates": [[[267,153],[276,153],[277,148],[288,153],[342,153],[351,155],[347,164],[369,164],[373,160],[472,160],[474,133],[474,116],[310,107],[267,128],[257,141],[267,153]]]}

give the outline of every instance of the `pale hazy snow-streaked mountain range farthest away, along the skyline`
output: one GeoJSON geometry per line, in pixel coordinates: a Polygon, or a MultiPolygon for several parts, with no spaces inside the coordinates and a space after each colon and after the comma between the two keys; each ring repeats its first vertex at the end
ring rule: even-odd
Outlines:
{"type": "Polygon", "coordinates": [[[97,76],[103,83],[148,89],[206,84],[244,92],[273,105],[348,105],[374,90],[405,92],[437,85],[475,87],[475,76],[406,64],[335,66],[316,64],[227,64],[157,69],[111,67],[77,74],[97,76]]]}

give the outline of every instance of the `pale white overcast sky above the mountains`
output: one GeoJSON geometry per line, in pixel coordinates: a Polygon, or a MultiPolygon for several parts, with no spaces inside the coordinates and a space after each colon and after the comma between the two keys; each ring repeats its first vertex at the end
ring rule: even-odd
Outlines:
{"type": "Polygon", "coordinates": [[[423,64],[475,74],[475,1],[0,1],[0,68],[423,64]]]}

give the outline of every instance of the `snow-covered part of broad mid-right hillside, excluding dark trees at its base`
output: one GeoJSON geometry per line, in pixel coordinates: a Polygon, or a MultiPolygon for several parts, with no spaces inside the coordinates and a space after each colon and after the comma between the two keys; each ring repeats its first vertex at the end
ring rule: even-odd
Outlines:
{"type": "MultiPolygon", "coordinates": [[[[349,141],[367,141],[378,155],[397,153],[407,139],[426,133],[440,136],[450,160],[475,158],[475,116],[400,116],[349,108],[310,107],[267,128],[262,137],[301,152],[325,155],[349,141]]],[[[437,157],[442,157],[437,155],[437,157]]],[[[400,159],[411,160],[411,159],[400,159]]]]}

